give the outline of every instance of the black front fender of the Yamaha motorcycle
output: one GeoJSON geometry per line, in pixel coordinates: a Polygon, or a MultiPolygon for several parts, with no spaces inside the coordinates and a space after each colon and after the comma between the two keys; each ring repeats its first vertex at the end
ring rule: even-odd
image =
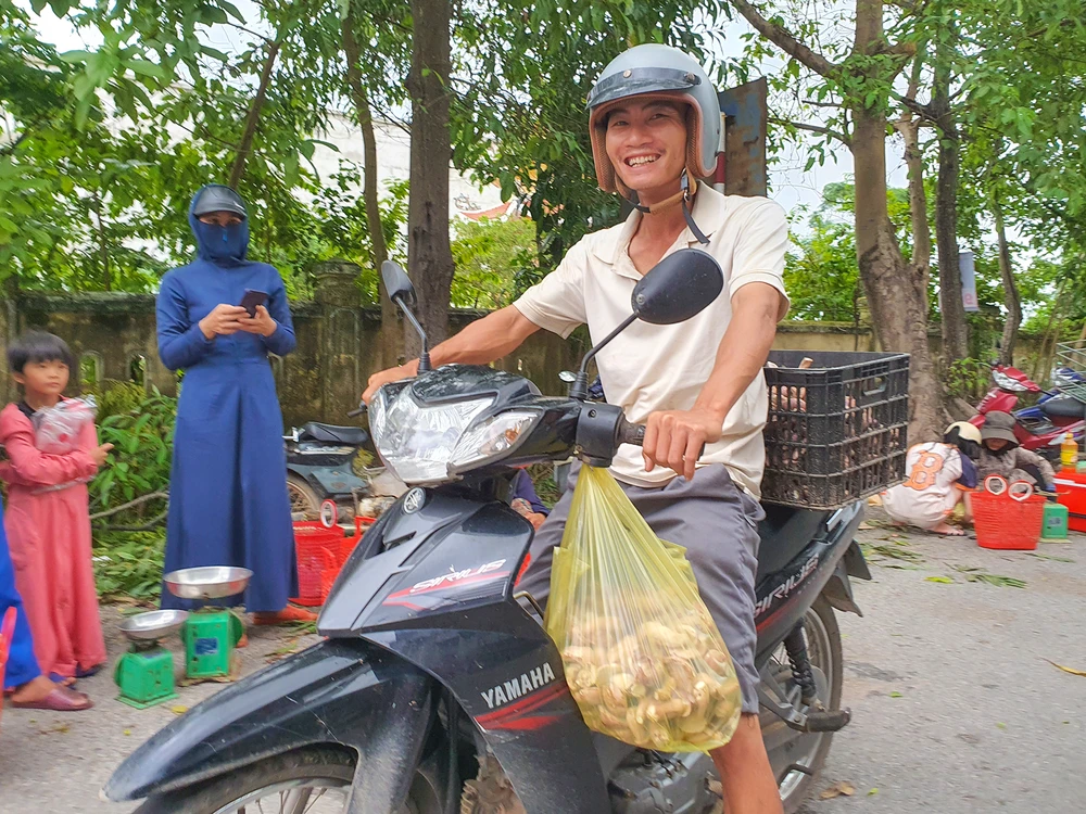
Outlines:
{"type": "Polygon", "coordinates": [[[114,802],[139,800],[294,749],[338,745],[380,754],[380,772],[359,761],[352,793],[372,811],[399,811],[430,723],[431,684],[368,643],[323,641],[193,707],[132,752],[102,791],[114,802]]]}

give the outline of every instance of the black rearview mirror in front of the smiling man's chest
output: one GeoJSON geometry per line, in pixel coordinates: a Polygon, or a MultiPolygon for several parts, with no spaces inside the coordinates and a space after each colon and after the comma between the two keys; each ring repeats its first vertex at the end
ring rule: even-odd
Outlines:
{"type": "Polygon", "coordinates": [[[633,288],[637,319],[654,325],[684,322],[720,296],[724,274],[711,255],[680,249],[649,269],[633,288]]]}

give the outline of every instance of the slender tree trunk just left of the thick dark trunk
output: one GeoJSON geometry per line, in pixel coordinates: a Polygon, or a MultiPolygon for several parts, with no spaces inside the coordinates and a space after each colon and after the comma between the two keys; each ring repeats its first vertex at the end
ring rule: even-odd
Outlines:
{"type": "Polygon", "coordinates": [[[374,115],[369,107],[369,94],[362,79],[359,68],[361,52],[358,41],[354,36],[354,11],[349,9],[343,20],[343,53],[346,56],[346,80],[354,99],[354,110],[362,130],[363,145],[363,200],[366,204],[366,227],[369,231],[369,244],[372,247],[374,267],[377,269],[377,296],[381,304],[381,334],[379,368],[395,367],[399,363],[400,343],[396,341],[400,332],[400,319],[396,306],[386,294],[384,282],[381,280],[381,264],[389,258],[389,250],[384,244],[384,229],[381,224],[381,207],[378,201],[377,188],[377,138],[374,132],[374,115]]]}

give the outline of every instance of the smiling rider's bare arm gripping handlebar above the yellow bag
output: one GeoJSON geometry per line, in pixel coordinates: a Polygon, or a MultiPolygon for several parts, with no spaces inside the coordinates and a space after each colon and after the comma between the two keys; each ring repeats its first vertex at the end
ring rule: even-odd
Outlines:
{"type": "Polygon", "coordinates": [[[645,471],[670,467],[690,480],[702,445],[720,440],[720,430],[740,396],[758,376],[776,335],[781,293],[752,282],[732,296],[732,320],[720,340],[712,373],[690,410],[662,410],[648,417],[645,471]]]}

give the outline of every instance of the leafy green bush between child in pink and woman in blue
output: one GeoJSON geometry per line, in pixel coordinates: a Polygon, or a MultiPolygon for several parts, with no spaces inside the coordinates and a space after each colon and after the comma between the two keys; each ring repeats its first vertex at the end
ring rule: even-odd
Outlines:
{"type": "MultiPolygon", "coordinates": [[[[130,385],[106,391],[108,409],[127,406],[130,385]]],[[[104,410],[103,410],[104,412],[104,410]]],[[[155,391],[126,412],[105,415],[99,422],[99,441],[113,444],[106,465],[90,482],[91,513],[108,511],[144,495],[167,492],[177,399],[155,391]]],[[[110,526],[140,526],[165,511],[163,498],[147,500],[100,521],[110,526]]]]}

